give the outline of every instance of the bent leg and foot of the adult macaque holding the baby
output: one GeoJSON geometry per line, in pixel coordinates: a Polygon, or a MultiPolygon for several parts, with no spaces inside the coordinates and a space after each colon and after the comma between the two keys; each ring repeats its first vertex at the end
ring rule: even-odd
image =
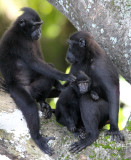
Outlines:
{"type": "Polygon", "coordinates": [[[86,134],[70,146],[70,152],[79,152],[91,145],[99,136],[99,130],[109,122],[109,103],[100,98],[94,101],[89,93],[81,94],[79,98],[81,119],[86,134]]]}

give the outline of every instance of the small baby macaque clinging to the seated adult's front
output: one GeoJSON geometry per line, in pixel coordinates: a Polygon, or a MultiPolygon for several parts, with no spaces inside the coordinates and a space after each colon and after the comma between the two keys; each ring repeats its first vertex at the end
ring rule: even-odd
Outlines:
{"type": "Polygon", "coordinates": [[[83,132],[83,122],[79,107],[79,98],[81,94],[89,93],[91,99],[98,100],[97,93],[90,91],[91,79],[80,71],[76,75],[76,81],[70,83],[60,93],[56,104],[56,121],[66,126],[69,131],[75,135],[81,136],[83,132]]]}

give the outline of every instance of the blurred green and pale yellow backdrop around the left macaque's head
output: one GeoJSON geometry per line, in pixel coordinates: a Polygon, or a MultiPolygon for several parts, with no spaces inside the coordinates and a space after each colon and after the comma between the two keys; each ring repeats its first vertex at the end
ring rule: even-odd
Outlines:
{"type": "Polygon", "coordinates": [[[47,62],[54,64],[57,69],[65,72],[67,67],[65,61],[66,40],[69,34],[75,31],[75,28],[66,17],[46,0],[10,0],[10,2],[0,0],[0,4],[0,28],[2,28],[0,29],[0,35],[9,26],[8,23],[6,23],[7,25],[3,25],[3,23],[13,21],[17,17],[20,8],[33,8],[44,21],[40,39],[43,57],[47,62]]]}

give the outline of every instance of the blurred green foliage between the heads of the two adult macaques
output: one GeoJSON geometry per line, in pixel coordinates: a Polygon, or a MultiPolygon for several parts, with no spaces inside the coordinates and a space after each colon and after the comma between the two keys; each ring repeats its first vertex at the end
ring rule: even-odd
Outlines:
{"type": "Polygon", "coordinates": [[[67,67],[65,54],[66,40],[69,33],[75,31],[69,21],[46,0],[27,0],[28,6],[35,9],[41,19],[42,25],[41,48],[44,58],[63,72],[67,67]]]}

